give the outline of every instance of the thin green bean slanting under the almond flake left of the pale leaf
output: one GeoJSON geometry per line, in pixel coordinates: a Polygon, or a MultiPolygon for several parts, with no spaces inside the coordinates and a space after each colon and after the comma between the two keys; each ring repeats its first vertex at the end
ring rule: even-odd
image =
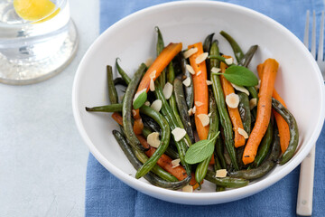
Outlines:
{"type": "MultiPolygon", "coordinates": [[[[167,103],[166,99],[163,96],[163,90],[162,87],[159,85],[158,82],[155,82],[155,90],[154,90],[154,94],[156,96],[157,99],[162,100],[162,113],[164,118],[167,119],[169,126],[171,127],[171,129],[173,130],[174,128],[178,127],[177,125],[177,121],[176,118],[174,117],[173,113],[172,113],[172,109],[169,106],[169,104],[167,103]]],[[[188,146],[186,145],[185,139],[182,138],[180,141],[176,141],[174,137],[172,137],[175,141],[175,145],[177,147],[180,159],[181,159],[181,165],[183,165],[185,167],[185,170],[187,172],[188,175],[190,175],[190,165],[188,165],[185,162],[185,153],[188,149],[188,146]]]]}

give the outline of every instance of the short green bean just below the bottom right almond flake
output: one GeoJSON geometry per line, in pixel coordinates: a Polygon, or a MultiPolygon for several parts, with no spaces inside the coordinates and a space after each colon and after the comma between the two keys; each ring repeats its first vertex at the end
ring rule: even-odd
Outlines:
{"type": "Polygon", "coordinates": [[[216,174],[211,170],[208,170],[205,179],[211,183],[217,184],[218,186],[227,187],[227,188],[239,188],[249,184],[249,181],[241,178],[231,178],[231,177],[217,178],[216,174]]]}

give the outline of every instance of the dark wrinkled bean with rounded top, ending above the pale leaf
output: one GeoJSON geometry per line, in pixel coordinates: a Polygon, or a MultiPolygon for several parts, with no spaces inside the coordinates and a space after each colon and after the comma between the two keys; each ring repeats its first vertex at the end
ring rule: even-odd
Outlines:
{"type": "Polygon", "coordinates": [[[179,79],[175,79],[173,82],[173,88],[174,88],[174,96],[176,99],[176,104],[178,107],[178,110],[181,114],[181,122],[183,126],[185,127],[187,135],[190,137],[190,142],[193,144],[195,143],[195,138],[193,134],[193,129],[190,127],[190,116],[188,112],[188,107],[186,105],[186,100],[184,97],[184,91],[182,87],[182,82],[179,79]]]}

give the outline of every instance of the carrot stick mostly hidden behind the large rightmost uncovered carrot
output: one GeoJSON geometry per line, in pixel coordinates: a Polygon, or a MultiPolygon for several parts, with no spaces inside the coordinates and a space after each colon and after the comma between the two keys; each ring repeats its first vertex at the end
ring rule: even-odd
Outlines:
{"type": "MultiPolygon", "coordinates": [[[[257,66],[257,72],[258,72],[258,76],[262,78],[263,64],[259,64],[257,66]]],[[[284,100],[280,97],[279,93],[275,89],[272,93],[272,97],[278,100],[286,108],[284,100]]],[[[277,113],[274,109],[272,109],[272,112],[274,113],[276,125],[279,129],[281,151],[282,153],[284,153],[287,147],[289,146],[289,141],[290,141],[289,125],[284,120],[284,118],[279,113],[277,113]]]]}

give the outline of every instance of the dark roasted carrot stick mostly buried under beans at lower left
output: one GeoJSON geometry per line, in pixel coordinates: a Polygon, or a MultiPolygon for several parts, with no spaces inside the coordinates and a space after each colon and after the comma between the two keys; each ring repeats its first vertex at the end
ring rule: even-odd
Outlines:
{"type": "MultiPolygon", "coordinates": [[[[123,125],[123,118],[117,112],[114,112],[112,114],[112,118],[119,125],[121,125],[121,126],[123,125]]],[[[142,146],[144,146],[145,148],[148,148],[148,147],[150,148],[148,151],[145,152],[145,155],[153,156],[153,153],[155,152],[156,148],[154,148],[153,146],[149,146],[149,144],[147,143],[146,139],[143,136],[136,135],[136,137],[139,139],[142,146]]],[[[157,161],[157,165],[160,165],[164,170],[166,170],[167,172],[174,175],[180,181],[187,177],[186,170],[181,165],[178,165],[178,166],[172,168],[172,158],[167,155],[163,154],[163,156],[161,156],[159,158],[159,160],[157,161]]],[[[199,187],[199,184],[195,181],[194,174],[191,175],[190,185],[193,186],[193,189],[196,189],[199,187]]]]}

